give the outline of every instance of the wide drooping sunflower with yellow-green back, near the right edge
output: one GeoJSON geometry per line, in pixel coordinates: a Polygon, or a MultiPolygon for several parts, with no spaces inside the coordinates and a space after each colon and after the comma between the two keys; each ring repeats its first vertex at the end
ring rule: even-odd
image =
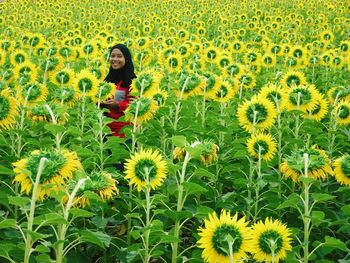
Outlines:
{"type": "Polygon", "coordinates": [[[292,155],[287,156],[285,161],[280,164],[280,171],[285,177],[290,177],[294,182],[299,181],[304,173],[304,153],[309,155],[308,175],[315,179],[326,179],[328,175],[333,174],[329,165],[330,161],[325,151],[312,147],[310,149],[299,149],[292,155]]]}

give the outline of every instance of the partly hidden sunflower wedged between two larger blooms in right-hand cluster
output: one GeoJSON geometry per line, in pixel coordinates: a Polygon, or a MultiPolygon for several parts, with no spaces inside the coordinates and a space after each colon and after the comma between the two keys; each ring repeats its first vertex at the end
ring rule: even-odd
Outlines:
{"type": "Polygon", "coordinates": [[[283,111],[287,100],[287,93],[284,88],[268,83],[261,88],[259,96],[269,99],[275,105],[277,111],[283,111]]]}

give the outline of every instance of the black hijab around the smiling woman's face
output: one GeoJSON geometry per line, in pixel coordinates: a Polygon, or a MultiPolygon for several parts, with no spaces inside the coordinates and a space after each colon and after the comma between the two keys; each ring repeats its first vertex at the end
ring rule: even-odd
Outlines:
{"type": "Polygon", "coordinates": [[[109,67],[109,72],[105,77],[105,81],[118,84],[122,80],[121,86],[127,88],[130,86],[132,79],[136,78],[134,72],[134,64],[131,60],[131,54],[127,46],[123,44],[117,44],[111,48],[109,55],[111,55],[113,49],[119,49],[125,58],[125,66],[121,69],[113,69],[109,67]]]}

